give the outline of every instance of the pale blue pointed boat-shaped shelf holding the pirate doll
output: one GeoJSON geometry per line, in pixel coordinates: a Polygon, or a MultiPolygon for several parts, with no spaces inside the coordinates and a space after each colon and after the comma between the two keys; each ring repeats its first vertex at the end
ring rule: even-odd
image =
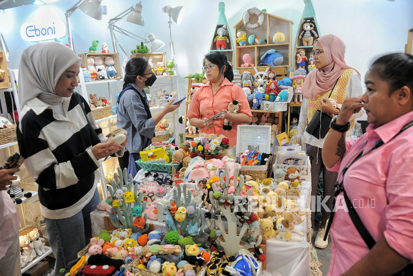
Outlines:
{"type": "MultiPolygon", "coordinates": [[[[297,31],[297,36],[296,36],[296,40],[295,40],[295,51],[294,51],[294,68],[295,70],[298,68],[297,62],[296,62],[296,56],[297,56],[297,52],[300,49],[304,49],[306,51],[306,57],[307,60],[310,60],[310,53],[312,51],[312,45],[307,45],[304,46],[303,45],[303,39],[299,39],[300,34],[303,32],[303,22],[307,21],[307,20],[312,20],[312,22],[314,22],[314,29],[313,31],[315,31],[318,35],[318,37],[321,36],[320,34],[320,29],[318,28],[318,23],[317,23],[317,19],[315,18],[315,12],[314,12],[314,7],[312,5],[312,0],[304,0],[304,3],[306,4],[304,6],[304,10],[303,10],[303,15],[301,16],[301,20],[300,20],[300,26],[298,28],[297,31]]],[[[317,39],[316,37],[313,37],[313,40],[317,39]]],[[[306,71],[308,72],[308,62],[306,64],[306,71]]]]}

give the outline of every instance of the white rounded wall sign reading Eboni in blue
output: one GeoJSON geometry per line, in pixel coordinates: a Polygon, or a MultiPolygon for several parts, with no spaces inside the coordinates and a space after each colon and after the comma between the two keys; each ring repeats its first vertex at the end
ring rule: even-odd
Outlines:
{"type": "Polygon", "coordinates": [[[24,23],[20,35],[25,41],[50,40],[66,35],[66,24],[59,18],[44,18],[40,21],[24,23]]]}

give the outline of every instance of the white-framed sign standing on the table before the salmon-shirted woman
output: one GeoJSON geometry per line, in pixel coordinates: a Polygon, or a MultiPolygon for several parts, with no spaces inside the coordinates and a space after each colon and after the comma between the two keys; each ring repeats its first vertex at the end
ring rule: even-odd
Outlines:
{"type": "Polygon", "coordinates": [[[238,125],[237,151],[271,152],[271,126],[238,125]]]}

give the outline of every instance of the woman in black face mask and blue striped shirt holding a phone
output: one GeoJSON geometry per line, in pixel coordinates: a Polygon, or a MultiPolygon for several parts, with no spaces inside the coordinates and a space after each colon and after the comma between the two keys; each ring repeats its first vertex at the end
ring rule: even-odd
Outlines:
{"type": "Polygon", "coordinates": [[[152,117],[143,88],[152,86],[155,80],[153,69],[146,60],[132,58],[127,62],[123,90],[117,99],[116,108],[117,126],[127,132],[129,140],[123,157],[119,158],[119,166],[128,168],[128,175],[132,174],[133,177],[140,169],[135,161],[140,158],[139,152],[152,142],[156,124],[181,105],[173,105],[175,100],[172,100],[152,117]]]}

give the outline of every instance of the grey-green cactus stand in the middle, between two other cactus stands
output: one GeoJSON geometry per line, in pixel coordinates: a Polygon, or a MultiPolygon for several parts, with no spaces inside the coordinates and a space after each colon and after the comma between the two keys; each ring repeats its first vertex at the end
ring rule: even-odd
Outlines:
{"type": "MultiPolygon", "coordinates": [[[[195,240],[198,237],[200,237],[203,233],[203,228],[201,225],[201,210],[197,208],[197,203],[195,201],[191,203],[191,191],[187,190],[186,184],[184,184],[183,186],[184,203],[181,203],[181,200],[179,200],[181,199],[181,195],[182,195],[181,188],[180,186],[178,186],[178,188],[174,190],[174,199],[175,199],[178,209],[180,207],[188,208],[189,206],[193,206],[195,209],[195,213],[188,214],[182,222],[178,222],[174,219],[175,226],[181,232],[182,236],[184,237],[192,236],[193,239],[195,240]],[[178,193],[177,193],[177,190],[178,190],[178,193]],[[191,222],[192,227],[190,227],[190,222],[191,222]],[[198,231],[194,232],[194,225],[196,223],[198,223],[199,228],[198,228],[198,231]],[[190,229],[191,229],[190,231],[191,234],[188,232],[188,230],[190,229]]],[[[166,228],[168,231],[173,230],[173,228],[168,224],[166,224],[166,228]]]]}

